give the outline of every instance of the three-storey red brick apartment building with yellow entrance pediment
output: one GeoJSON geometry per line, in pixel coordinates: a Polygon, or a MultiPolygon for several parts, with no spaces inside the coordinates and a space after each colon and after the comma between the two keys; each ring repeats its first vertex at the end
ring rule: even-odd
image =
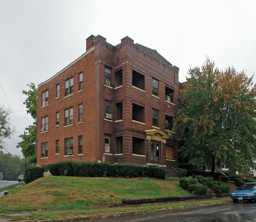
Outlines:
{"type": "Polygon", "coordinates": [[[91,35],[83,55],[38,86],[37,164],[178,167],[178,72],[127,36],[113,46],[91,35]]]}

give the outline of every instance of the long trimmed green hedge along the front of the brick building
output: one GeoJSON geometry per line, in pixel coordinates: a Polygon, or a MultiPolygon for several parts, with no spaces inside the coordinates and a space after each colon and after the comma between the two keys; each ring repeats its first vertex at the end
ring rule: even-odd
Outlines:
{"type": "Polygon", "coordinates": [[[133,164],[108,164],[89,162],[58,162],[47,166],[54,176],[74,177],[154,177],[163,179],[165,169],[133,164]]]}

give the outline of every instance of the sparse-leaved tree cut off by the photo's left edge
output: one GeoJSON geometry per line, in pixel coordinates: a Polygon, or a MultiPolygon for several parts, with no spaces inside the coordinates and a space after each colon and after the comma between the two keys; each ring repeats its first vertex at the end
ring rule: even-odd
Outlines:
{"type": "Polygon", "coordinates": [[[0,149],[3,149],[3,139],[10,138],[14,132],[13,126],[11,126],[11,120],[9,118],[10,110],[0,107],[0,149]]]}

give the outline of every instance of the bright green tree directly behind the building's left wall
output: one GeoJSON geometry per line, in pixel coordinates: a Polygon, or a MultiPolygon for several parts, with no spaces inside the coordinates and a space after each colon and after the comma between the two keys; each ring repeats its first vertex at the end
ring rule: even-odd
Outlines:
{"type": "Polygon", "coordinates": [[[22,141],[18,143],[17,148],[21,147],[23,156],[25,157],[26,164],[33,164],[36,163],[36,140],[37,140],[37,87],[34,83],[27,84],[30,87],[29,91],[23,90],[22,93],[27,95],[24,105],[26,105],[27,113],[29,113],[32,118],[35,120],[33,125],[26,127],[25,129],[28,131],[20,135],[19,137],[22,138],[22,141]]]}

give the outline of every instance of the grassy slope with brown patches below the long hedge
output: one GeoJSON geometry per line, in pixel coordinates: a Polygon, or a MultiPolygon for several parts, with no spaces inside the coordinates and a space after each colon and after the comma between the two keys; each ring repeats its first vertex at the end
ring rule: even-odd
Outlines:
{"type": "Polygon", "coordinates": [[[96,209],[138,199],[187,196],[177,181],[153,178],[44,177],[0,198],[0,213],[33,210],[96,209]],[[88,208],[89,207],[89,208],[88,208]]]}

